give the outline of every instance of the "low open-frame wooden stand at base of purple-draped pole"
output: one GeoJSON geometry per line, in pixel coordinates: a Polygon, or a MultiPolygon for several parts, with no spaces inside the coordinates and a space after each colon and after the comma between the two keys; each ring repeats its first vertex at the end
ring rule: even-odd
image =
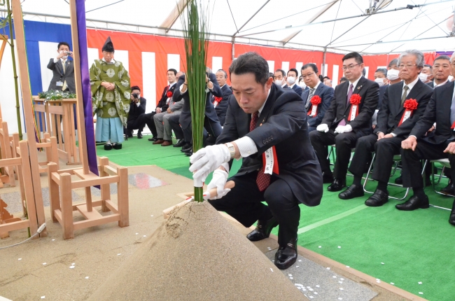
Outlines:
{"type": "Polygon", "coordinates": [[[63,227],[63,238],[74,237],[74,230],[112,223],[118,221],[120,227],[129,225],[128,208],[128,170],[126,167],[113,169],[109,166],[109,159],[99,158],[99,174],[83,174],[83,169],[57,170],[55,163],[49,167],[49,191],[50,191],[50,213],[52,221],[59,222],[63,227]],[[71,176],[77,176],[75,180],[71,176]],[[109,184],[117,183],[118,201],[117,205],[111,202],[111,190],[109,184]],[[101,186],[101,200],[92,201],[90,186],[101,186]],[[71,190],[85,188],[85,203],[75,204],[71,200],[71,190]],[[60,189],[60,196],[59,196],[60,189]],[[102,216],[93,207],[102,207],[102,211],[112,211],[113,214],[102,216]],[[79,211],[85,221],[73,221],[73,211],[79,211]]]}

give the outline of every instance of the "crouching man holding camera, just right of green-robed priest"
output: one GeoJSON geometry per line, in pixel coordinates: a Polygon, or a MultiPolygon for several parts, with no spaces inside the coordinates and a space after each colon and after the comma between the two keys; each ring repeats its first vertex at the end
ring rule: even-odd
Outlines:
{"type": "Polygon", "coordinates": [[[141,115],[146,113],[147,100],[141,97],[141,88],[137,85],[131,87],[131,103],[130,113],[127,120],[127,134],[128,138],[133,137],[133,130],[137,131],[137,139],[142,139],[142,130],[144,130],[144,123],[141,120],[141,115]]]}

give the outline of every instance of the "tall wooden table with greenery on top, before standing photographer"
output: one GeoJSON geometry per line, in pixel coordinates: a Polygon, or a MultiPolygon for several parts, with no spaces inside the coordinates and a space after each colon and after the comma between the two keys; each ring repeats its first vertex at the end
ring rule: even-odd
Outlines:
{"type": "MultiPolygon", "coordinates": [[[[79,165],[80,155],[73,118],[76,99],[59,99],[46,102],[45,99],[34,96],[33,100],[38,130],[41,129],[41,139],[43,139],[45,132],[48,132],[51,137],[56,137],[59,158],[63,159],[66,165],[79,165]],[[63,125],[63,132],[60,125],[63,125]]],[[[47,169],[40,170],[40,172],[46,171],[47,169]]]]}

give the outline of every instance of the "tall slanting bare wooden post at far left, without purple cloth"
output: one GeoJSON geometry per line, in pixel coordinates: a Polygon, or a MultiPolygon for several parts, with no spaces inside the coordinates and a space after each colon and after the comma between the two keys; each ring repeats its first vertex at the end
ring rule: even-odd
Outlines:
{"type": "MultiPolygon", "coordinates": [[[[74,1],[71,1],[73,3],[74,1]]],[[[28,185],[33,185],[34,190],[34,199],[36,204],[36,214],[38,218],[38,223],[41,225],[45,223],[44,216],[44,207],[43,207],[43,194],[41,193],[41,180],[39,175],[39,165],[38,165],[38,154],[36,152],[36,141],[34,134],[34,113],[33,108],[31,107],[31,90],[30,90],[30,80],[29,80],[29,69],[27,66],[27,52],[25,48],[25,35],[24,35],[24,20],[22,18],[22,8],[20,6],[20,0],[12,0],[11,6],[13,10],[14,18],[14,32],[16,38],[16,47],[18,50],[18,62],[19,62],[19,74],[20,74],[20,88],[22,91],[22,104],[24,110],[24,123],[28,129],[27,138],[29,155],[27,158],[30,160],[31,167],[31,183],[28,185]]],[[[22,151],[21,151],[22,157],[22,151]]],[[[29,199],[29,200],[33,200],[29,199]]],[[[29,214],[30,215],[30,214],[29,214]]],[[[29,216],[30,218],[30,216],[29,216]]],[[[34,232],[32,232],[34,234],[34,232]]],[[[40,234],[41,237],[47,236],[47,230],[44,229],[40,234]]]]}

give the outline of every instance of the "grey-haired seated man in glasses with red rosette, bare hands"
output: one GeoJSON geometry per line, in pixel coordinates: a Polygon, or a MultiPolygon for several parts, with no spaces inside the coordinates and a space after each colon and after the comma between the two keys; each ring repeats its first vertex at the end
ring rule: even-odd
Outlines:
{"type": "Polygon", "coordinates": [[[398,58],[398,65],[404,65],[400,69],[402,81],[386,90],[373,134],[357,140],[356,152],[349,166],[354,180],[349,188],[338,195],[340,199],[363,196],[360,181],[370,154],[375,151],[373,179],[378,184],[374,195],[368,198],[365,205],[378,207],[388,202],[387,182],[392,170],[393,155],[400,153],[401,141],[407,138],[421,118],[433,94],[433,90],[419,80],[424,62],[423,53],[419,50],[407,50],[398,58]]]}

